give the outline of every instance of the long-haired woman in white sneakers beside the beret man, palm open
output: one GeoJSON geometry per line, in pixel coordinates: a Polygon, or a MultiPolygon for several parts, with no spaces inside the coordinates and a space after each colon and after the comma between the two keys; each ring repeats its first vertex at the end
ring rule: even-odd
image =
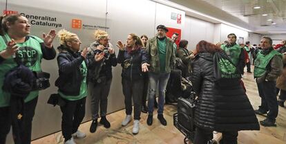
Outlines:
{"type": "Polygon", "coordinates": [[[122,90],[125,96],[126,118],[122,125],[126,126],[131,121],[132,99],[134,103],[134,123],[133,134],[139,132],[140,114],[142,106],[143,74],[148,71],[148,58],[142,49],[140,37],[131,33],[127,37],[126,46],[118,41],[117,46],[120,51],[117,61],[122,66],[122,90]]]}

